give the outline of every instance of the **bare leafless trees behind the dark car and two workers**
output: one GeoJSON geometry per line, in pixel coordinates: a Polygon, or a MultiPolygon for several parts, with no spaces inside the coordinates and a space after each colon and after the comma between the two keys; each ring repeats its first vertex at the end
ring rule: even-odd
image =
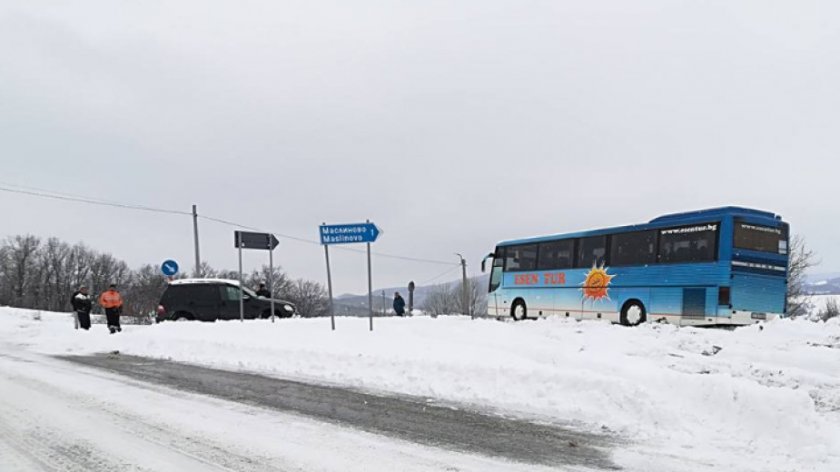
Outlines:
{"type": "MultiPolygon", "coordinates": [[[[194,275],[239,278],[238,271],[217,270],[207,263],[194,275]]],[[[268,275],[267,266],[244,274],[245,285],[257,287],[269,280],[268,275]]],[[[168,282],[157,264],[132,269],[125,261],[82,243],[28,234],[0,242],[0,306],[71,311],[70,297],[80,286],[87,286],[97,297],[112,283],[123,295],[125,314],[144,316],[157,308],[168,282]]],[[[329,299],[318,282],[291,279],[275,268],[274,294],[295,303],[302,316],[328,315],[329,299]]]]}

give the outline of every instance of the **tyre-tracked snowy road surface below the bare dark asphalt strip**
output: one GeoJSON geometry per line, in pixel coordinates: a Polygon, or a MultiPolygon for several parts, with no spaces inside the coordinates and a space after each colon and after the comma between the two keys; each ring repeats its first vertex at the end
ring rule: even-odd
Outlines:
{"type": "Polygon", "coordinates": [[[3,472],[548,470],[149,386],[5,342],[0,392],[3,472]]]}

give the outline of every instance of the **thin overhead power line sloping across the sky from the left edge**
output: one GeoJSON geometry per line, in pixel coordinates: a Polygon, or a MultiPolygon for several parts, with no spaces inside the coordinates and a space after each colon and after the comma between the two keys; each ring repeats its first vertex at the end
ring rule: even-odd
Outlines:
{"type": "MultiPolygon", "coordinates": [[[[120,202],[114,202],[114,201],[108,201],[108,200],[102,200],[102,199],[95,199],[95,198],[91,198],[91,197],[85,197],[85,196],[81,196],[81,195],[58,193],[58,192],[54,192],[54,191],[51,191],[51,190],[37,188],[37,187],[26,187],[26,186],[22,186],[22,185],[8,184],[8,183],[5,183],[5,182],[0,182],[0,191],[8,192],[8,193],[17,193],[17,194],[22,194],[22,195],[29,195],[29,196],[33,196],[33,197],[50,198],[50,199],[54,199],[54,200],[84,203],[84,204],[88,204],[88,205],[99,205],[99,206],[107,206],[107,207],[113,207],[113,208],[122,208],[122,209],[126,209],[126,210],[148,211],[148,212],[153,212],[153,213],[164,213],[164,214],[170,214],[170,215],[183,215],[183,216],[192,217],[192,212],[189,212],[189,211],[173,210],[173,209],[167,209],[167,208],[157,208],[157,207],[151,207],[151,206],[146,206],[146,205],[136,205],[136,204],[130,204],[130,203],[120,203],[120,202]]],[[[235,228],[242,228],[242,229],[247,229],[247,230],[251,230],[251,231],[263,231],[263,232],[265,231],[264,229],[256,228],[256,227],[253,227],[253,226],[243,225],[241,223],[236,223],[236,222],[233,222],[233,221],[224,220],[222,218],[215,218],[215,217],[207,216],[207,215],[198,215],[198,217],[202,218],[202,219],[205,219],[205,220],[208,220],[208,221],[213,221],[213,222],[216,222],[216,223],[228,225],[228,226],[235,227],[235,228]]],[[[269,232],[271,232],[271,231],[269,231],[269,232]]],[[[271,233],[274,234],[275,236],[283,238],[283,239],[298,241],[298,242],[302,242],[302,243],[306,243],[306,244],[312,244],[312,245],[315,245],[315,246],[320,246],[321,245],[320,241],[316,241],[314,239],[301,238],[301,237],[298,237],[298,236],[292,236],[290,234],[283,234],[283,233],[278,233],[278,232],[271,232],[271,233]]],[[[354,249],[354,248],[346,247],[346,246],[335,246],[335,249],[345,251],[345,252],[355,252],[355,253],[358,253],[358,254],[364,254],[365,253],[364,250],[354,249]]],[[[453,262],[439,261],[439,260],[434,260],[434,259],[424,259],[424,258],[420,258],[420,257],[401,256],[401,255],[398,255],[398,254],[386,254],[386,253],[381,253],[381,252],[371,252],[371,254],[374,254],[377,257],[384,257],[384,258],[388,258],[388,259],[397,259],[397,260],[403,260],[403,261],[409,261],[409,262],[420,262],[420,263],[426,263],[426,264],[439,264],[439,265],[451,265],[451,266],[456,266],[456,267],[458,266],[458,264],[455,264],[453,262]]]]}

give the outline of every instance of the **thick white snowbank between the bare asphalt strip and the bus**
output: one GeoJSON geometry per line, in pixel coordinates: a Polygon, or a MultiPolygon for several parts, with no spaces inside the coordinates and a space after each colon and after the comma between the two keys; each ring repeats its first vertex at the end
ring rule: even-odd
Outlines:
{"type": "MultiPolygon", "coordinates": [[[[40,317],[40,320],[36,318],[40,317]]],[[[0,340],[419,395],[612,432],[627,470],[840,470],[840,320],[722,329],[547,319],[163,323],[75,331],[0,309],[0,340]]]]}

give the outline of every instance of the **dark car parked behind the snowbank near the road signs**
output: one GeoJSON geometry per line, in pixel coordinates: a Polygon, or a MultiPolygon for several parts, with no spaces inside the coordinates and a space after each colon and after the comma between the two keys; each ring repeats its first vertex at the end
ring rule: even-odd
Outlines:
{"type": "MultiPolygon", "coordinates": [[[[239,295],[243,293],[245,318],[268,318],[271,316],[271,300],[257,296],[245,288],[239,290],[239,282],[223,279],[181,279],[173,280],[160,298],[157,321],[164,320],[238,320],[239,295]]],[[[289,318],[295,314],[295,305],[285,300],[274,299],[274,315],[289,318]]]]}

